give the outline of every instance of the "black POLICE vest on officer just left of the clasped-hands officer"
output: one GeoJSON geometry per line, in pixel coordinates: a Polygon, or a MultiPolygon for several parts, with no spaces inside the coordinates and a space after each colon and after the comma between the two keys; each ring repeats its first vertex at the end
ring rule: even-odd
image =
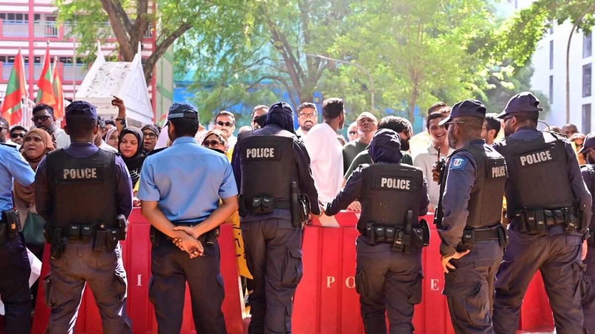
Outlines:
{"type": "Polygon", "coordinates": [[[71,157],[63,149],[46,156],[48,188],[52,193],[51,223],[104,222],[117,225],[115,154],[98,150],[90,157],[71,157]]]}

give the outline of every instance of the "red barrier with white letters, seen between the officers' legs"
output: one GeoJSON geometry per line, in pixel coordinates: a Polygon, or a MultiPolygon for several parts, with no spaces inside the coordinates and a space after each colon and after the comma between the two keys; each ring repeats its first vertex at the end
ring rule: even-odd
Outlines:
{"type": "MultiPolygon", "coordinates": [[[[342,212],[334,218],[315,220],[312,226],[304,229],[304,275],[294,300],[294,333],[364,332],[354,278],[355,239],[358,236],[355,224],[358,216],[357,213],[342,212]]],[[[431,221],[431,216],[425,219],[431,221]]],[[[247,330],[249,317],[245,317],[243,310],[234,242],[231,226],[222,226],[219,244],[221,273],[226,289],[223,312],[228,333],[242,334],[247,330]]],[[[154,309],[148,298],[151,275],[149,224],[140,216],[140,210],[133,210],[129,237],[122,244],[129,286],[127,312],[132,320],[133,332],[156,333],[154,309]]],[[[430,247],[425,248],[422,254],[425,278],[422,283],[422,302],[415,308],[416,333],[453,333],[446,298],[441,294],[444,276],[440,267],[439,245],[440,239],[432,227],[430,247]]],[[[42,278],[49,270],[47,259],[44,259],[43,264],[42,278]]],[[[189,299],[189,292],[186,291],[182,333],[195,333],[189,299]]],[[[40,286],[33,333],[44,332],[48,317],[49,310],[43,302],[43,288],[40,286]]],[[[547,304],[540,275],[536,275],[525,295],[519,329],[553,329],[552,311],[547,304]]],[[[101,333],[99,312],[92,294],[87,291],[83,295],[76,332],[101,333]]]]}

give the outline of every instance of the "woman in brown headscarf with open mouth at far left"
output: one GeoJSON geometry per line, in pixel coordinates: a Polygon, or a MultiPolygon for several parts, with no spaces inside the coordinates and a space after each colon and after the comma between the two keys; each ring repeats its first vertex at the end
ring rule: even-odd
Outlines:
{"type": "MultiPolygon", "coordinates": [[[[23,138],[21,155],[23,155],[24,159],[29,162],[29,165],[33,171],[37,171],[37,165],[39,165],[39,162],[48,152],[53,151],[54,149],[55,147],[54,143],[52,142],[52,137],[45,130],[36,128],[29,131],[29,133],[27,133],[27,135],[23,138]]],[[[37,211],[35,210],[35,196],[33,194],[34,188],[35,183],[25,187],[18,182],[14,182],[14,203],[15,208],[20,213],[19,218],[23,228],[25,228],[26,222],[32,222],[33,220],[39,222],[39,224],[36,225],[40,225],[41,228],[35,229],[33,226],[29,226],[27,227],[27,230],[34,231],[35,234],[39,232],[39,235],[33,235],[31,237],[36,237],[34,239],[40,240],[43,236],[43,218],[37,215],[37,211]],[[27,220],[29,215],[32,215],[32,217],[27,220]]],[[[27,243],[29,244],[30,242],[32,242],[32,240],[29,238],[27,243]]]]}

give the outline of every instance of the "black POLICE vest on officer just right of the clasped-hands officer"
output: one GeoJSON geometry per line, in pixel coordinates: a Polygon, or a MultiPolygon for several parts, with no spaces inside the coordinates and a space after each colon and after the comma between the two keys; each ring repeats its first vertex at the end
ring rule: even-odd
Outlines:
{"type": "Polygon", "coordinates": [[[290,200],[291,183],[296,182],[297,163],[293,155],[293,138],[251,135],[242,138],[240,166],[246,200],[271,196],[275,200],[290,200]]]}

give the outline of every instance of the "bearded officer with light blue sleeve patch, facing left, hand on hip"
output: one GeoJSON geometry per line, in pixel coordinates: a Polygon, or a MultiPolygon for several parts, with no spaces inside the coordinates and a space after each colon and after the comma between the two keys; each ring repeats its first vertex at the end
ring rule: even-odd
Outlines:
{"type": "Polygon", "coordinates": [[[436,215],[444,271],[443,294],[456,333],[493,333],[491,309],[496,270],[506,246],[500,223],[506,182],[503,157],[481,139],[486,107],[464,100],[440,125],[455,149],[440,180],[436,215]]]}

